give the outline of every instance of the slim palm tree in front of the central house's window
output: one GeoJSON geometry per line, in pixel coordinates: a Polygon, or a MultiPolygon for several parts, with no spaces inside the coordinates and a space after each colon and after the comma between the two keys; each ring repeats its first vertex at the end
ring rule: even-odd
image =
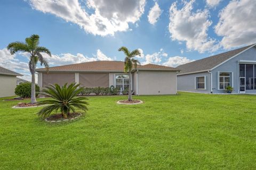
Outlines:
{"type": "Polygon", "coordinates": [[[130,52],[126,47],[121,47],[118,49],[119,52],[124,52],[125,59],[124,59],[124,72],[129,72],[129,97],[128,100],[132,101],[132,92],[131,92],[131,75],[132,75],[132,69],[134,66],[134,69],[137,69],[137,65],[140,64],[138,60],[135,60],[133,57],[140,56],[140,51],[138,49],[134,49],[132,52],[130,52]]]}

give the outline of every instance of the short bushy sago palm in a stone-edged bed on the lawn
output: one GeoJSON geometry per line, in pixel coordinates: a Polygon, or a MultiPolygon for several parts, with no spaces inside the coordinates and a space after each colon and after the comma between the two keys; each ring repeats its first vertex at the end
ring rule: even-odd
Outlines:
{"type": "Polygon", "coordinates": [[[46,99],[38,102],[38,105],[48,105],[41,109],[37,114],[42,117],[49,116],[53,111],[60,111],[62,117],[68,117],[70,111],[75,112],[75,109],[82,109],[87,111],[87,98],[76,97],[80,92],[84,90],[83,87],[79,87],[79,84],[71,83],[67,86],[67,83],[60,87],[59,84],[50,84],[46,86],[41,94],[51,99],[46,99]]]}

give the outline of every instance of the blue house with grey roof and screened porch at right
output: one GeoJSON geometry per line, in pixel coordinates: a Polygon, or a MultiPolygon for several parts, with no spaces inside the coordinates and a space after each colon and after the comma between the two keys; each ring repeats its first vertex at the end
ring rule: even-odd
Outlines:
{"type": "Polygon", "coordinates": [[[256,93],[256,44],[177,67],[178,91],[222,94],[256,93]]]}

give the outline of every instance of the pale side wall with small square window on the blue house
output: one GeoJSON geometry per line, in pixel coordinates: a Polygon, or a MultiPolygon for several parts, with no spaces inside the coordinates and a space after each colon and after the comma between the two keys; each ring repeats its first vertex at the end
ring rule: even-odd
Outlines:
{"type": "Polygon", "coordinates": [[[178,75],[178,91],[190,91],[190,92],[201,92],[210,93],[211,92],[211,75],[208,72],[178,75]],[[206,77],[206,90],[199,90],[195,87],[196,77],[206,77]]]}

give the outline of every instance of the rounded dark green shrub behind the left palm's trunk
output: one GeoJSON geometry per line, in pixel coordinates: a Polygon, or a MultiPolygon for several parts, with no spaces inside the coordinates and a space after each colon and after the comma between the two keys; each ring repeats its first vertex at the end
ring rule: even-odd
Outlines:
{"type": "MultiPolygon", "coordinates": [[[[38,96],[39,90],[40,90],[39,86],[36,85],[36,96],[38,96]]],[[[20,97],[31,97],[31,83],[26,82],[26,83],[19,84],[15,88],[15,94],[20,97]]]]}

